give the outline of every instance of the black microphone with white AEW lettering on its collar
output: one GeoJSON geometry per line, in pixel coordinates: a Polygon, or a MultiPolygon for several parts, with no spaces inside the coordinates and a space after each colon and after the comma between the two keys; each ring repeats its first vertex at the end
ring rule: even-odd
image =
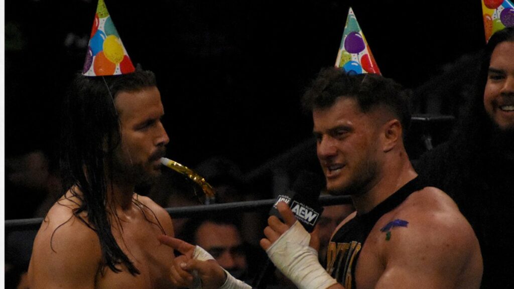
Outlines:
{"type": "MultiPolygon", "coordinates": [[[[296,219],[303,225],[305,230],[312,232],[323,212],[323,207],[318,202],[323,187],[324,183],[320,175],[310,171],[302,171],[293,183],[292,190],[277,197],[269,214],[275,215],[282,220],[277,210],[277,204],[285,202],[289,205],[296,219]]],[[[253,280],[252,287],[258,289],[266,288],[267,282],[273,278],[274,271],[275,266],[268,258],[261,274],[253,280]]]]}

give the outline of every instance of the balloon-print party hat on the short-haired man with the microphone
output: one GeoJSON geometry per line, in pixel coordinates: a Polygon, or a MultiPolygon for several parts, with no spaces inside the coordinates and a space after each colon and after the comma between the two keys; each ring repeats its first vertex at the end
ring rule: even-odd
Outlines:
{"type": "Polygon", "coordinates": [[[348,10],[346,17],[343,39],[341,39],[337,53],[336,67],[343,68],[347,74],[374,73],[381,75],[352,7],[348,10]]]}

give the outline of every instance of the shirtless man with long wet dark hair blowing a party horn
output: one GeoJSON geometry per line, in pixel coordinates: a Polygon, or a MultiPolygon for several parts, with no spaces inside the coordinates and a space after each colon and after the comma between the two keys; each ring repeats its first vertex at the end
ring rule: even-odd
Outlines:
{"type": "Polygon", "coordinates": [[[154,74],[137,69],[105,82],[79,75],[66,105],[62,164],[69,190],[35,238],[30,288],[173,287],[173,250],[157,240],[173,236],[171,218],[134,193],[159,175],[169,142],[154,74]]]}

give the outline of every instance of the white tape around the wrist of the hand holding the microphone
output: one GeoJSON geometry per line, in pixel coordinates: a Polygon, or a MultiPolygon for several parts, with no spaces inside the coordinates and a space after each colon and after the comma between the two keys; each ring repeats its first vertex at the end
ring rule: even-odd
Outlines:
{"type": "Polygon", "coordinates": [[[269,259],[299,289],[325,289],[337,283],[309,247],[310,234],[296,221],[266,250],[269,259]]]}

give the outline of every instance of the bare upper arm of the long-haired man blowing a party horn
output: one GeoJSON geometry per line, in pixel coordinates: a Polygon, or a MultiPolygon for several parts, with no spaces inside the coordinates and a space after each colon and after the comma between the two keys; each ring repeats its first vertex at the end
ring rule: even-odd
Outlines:
{"type": "Polygon", "coordinates": [[[46,221],[34,240],[30,288],[93,289],[102,260],[96,233],[75,216],[66,223],[52,216],[46,221]]]}

